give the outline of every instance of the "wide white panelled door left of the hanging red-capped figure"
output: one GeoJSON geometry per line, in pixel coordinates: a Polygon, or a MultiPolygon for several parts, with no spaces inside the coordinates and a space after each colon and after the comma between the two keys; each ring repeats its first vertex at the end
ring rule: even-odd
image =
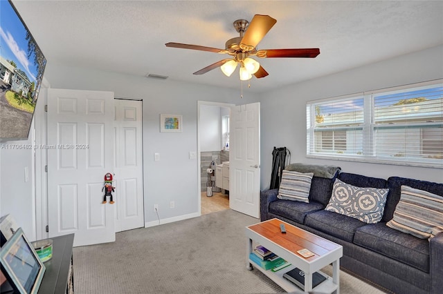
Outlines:
{"type": "Polygon", "coordinates": [[[48,89],[49,237],[74,246],[115,241],[114,206],[102,204],[114,173],[114,93],[48,89]]]}

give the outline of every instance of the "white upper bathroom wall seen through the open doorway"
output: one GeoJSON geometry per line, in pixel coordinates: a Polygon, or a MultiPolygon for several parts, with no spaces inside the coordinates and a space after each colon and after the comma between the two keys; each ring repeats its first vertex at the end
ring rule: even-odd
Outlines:
{"type": "Polygon", "coordinates": [[[200,105],[200,151],[221,150],[221,110],[219,106],[200,105]]]}

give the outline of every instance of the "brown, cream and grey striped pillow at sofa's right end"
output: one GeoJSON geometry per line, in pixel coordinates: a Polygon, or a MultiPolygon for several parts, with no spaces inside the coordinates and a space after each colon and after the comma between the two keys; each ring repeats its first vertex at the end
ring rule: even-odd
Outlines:
{"type": "Polygon", "coordinates": [[[386,226],[421,239],[435,237],[443,232],[443,197],[401,186],[400,201],[386,226]]]}

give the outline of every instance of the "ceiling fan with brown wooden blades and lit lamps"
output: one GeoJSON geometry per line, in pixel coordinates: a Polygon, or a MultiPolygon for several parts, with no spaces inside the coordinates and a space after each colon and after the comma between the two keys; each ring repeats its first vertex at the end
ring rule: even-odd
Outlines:
{"type": "Polygon", "coordinates": [[[269,17],[269,15],[260,14],[255,14],[251,23],[246,21],[246,19],[238,19],[237,21],[234,21],[234,28],[239,32],[240,36],[226,41],[225,49],[173,42],[166,43],[165,45],[166,47],[172,48],[201,50],[231,55],[232,58],[217,61],[210,66],[206,66],[206,68],[194,72],[194,75],[203,75],[214,68],[220,67],[221,71],[226,76],[230,77],[235,71],[235,68],[239,65],[239,74],[242,81],[251,79],[252,75],[255,75],[257,79],[269,75],[268,72],[260,66],[260,63],[255,61],[255,59],[252,59],[250,56],[260,58],[315,58],[320,54],[320,49],[318,48],[257,50],[257,44],[262,41],[263,37],[269,32],[269,30],[271,30],[276,22],[277,21],[272,17],[269,17]]]}

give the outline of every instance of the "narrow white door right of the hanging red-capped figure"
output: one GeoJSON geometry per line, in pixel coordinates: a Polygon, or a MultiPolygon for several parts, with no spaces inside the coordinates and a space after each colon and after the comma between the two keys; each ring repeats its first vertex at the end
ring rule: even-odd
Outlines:
{"type": "Polygon", "coordinates": [[[141,228],[143,215],[142,101],[115,99],[116,232],[141,228]]]}

